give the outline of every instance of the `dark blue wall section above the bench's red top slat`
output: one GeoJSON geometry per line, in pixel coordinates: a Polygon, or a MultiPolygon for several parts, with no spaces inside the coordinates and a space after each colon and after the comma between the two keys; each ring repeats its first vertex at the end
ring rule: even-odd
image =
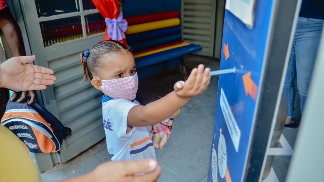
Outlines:
{"type": "Polygon", "coordinates": [[[181,12],[181,0],[123,0],[122,2],[124,17],[172,10],[181,12]]]}

